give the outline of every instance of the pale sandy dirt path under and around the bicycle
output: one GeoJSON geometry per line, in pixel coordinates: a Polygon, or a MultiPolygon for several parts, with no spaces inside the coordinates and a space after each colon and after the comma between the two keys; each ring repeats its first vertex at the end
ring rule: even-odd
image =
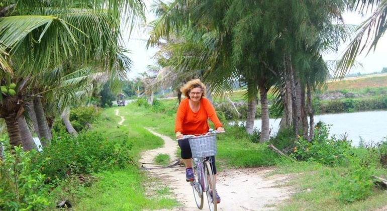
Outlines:
{"type": "MultiPolygon", "coordinates": [[[[161,189],[167,186],[173,197],[181,203],[181,206],[172,210],[199,210],[193,198],[192,188],[185,181],[185,167],[178,164],[177,142],[151,129],[148,131],[162,138],[165,144],[162,148],[142,153],[140,160],[142,168],[147,168],[149,175],[156,178],[162,187],[157,187],[154,183],[145,185],[148,189],[161,189]],[[172,160],[170,167],[153,164],[153,158],[158,154],[170,156],[172,160]]],[[[224,169],[218,172],[217,189],[222,198],[218,210],[276,210],[276,206],[291,195],[292,188],[284,186],[287,181],[286,175],[265,177],[272,171],[273,168],[244,168],[224,169]]],[[[203,210],[209,210],[206,196],[204,200],[203,210]]]]}

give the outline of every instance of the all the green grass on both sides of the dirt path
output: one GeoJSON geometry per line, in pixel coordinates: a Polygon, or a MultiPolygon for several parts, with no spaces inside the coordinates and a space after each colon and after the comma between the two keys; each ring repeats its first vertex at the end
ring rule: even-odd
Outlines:
{"type": "MultiPolygon", "coordinates": [[[[166,103],[173,106],[174,101],[168,100],[166,103]]],[[[131,142],[133,153],[138,159],[140,152],[155,149],[163,144],[159,137],[152,135],[145,128],[152,128],[174,140],[174,112],[175,108],[171,108],[164,113],[154,113],[151,109],[130,103],[125,107],[105,109],[103,121],[93,127],[110,134],[114,139],[131,142]],[[119,114],[126,119],[124,126],[117,124],[121,118],[115,116],[116,109],[119,109],[119,114]]],[[[274,173],[288,174],[289,181],[286,186],[292,186],[295,192],[284,204],[277,207],[279,210],[372,210],[386,204],[384,199],[387,194],[379,189],[375,189],[373,194],[363,201],[346,204],[336,200],[337,190],[334,186],[346,168],[291,162],[268,150],[264,144],[252,143],[240,128],[227,126],[227,123],[225,128],[226,134],[219,135],[217,143],[219,171],[225,168],[277,166],[274,173]]],[[[157,159],[166,160],[164,156],[160,154],[157,159]]],[[[386,175],[384,169],[379,171],[378,175],[386,175]]],[[[87,189],[88,197],[78,202],[76,209],[152,210],[172,209],[179,205],[167,186],[149,178],[145,172],[139,171],[137,166],[96,176],[99,181],[87,189]]]]}

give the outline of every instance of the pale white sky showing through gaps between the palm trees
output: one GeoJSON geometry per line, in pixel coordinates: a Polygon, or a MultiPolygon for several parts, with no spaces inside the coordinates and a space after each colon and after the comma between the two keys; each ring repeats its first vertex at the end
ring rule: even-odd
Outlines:
{"type": "MultiPolygon", "coordinates": [[[[146,13],[148,23],[155,19],[154,15],[149,12],[151,1],[152,0],[144,1],[148,10],[146,13]]],[[[368,13],[367,15],[369,16],[370,13],[368,13]]],[[[344,14],[343,17],[345,24],[350,25],[359,25],[367,18],[366,16],[362,17],[358,14],[353,13],[344,14]]],[[[140,30],[132,33],[130,39],[124,36],[126,47],[132,52],[132,54],[129,55],[129,57],[133,61],[132,70],[128,75],[130,79],[135,78],[139,75],[139,73],[145,72],[147,70],[148,65],[155,65],[155,60],[152,59],[152,56],[157,52],[157,48],[146,49],[146,41],[148,40],[148,38],[149,35],[147,34],[147,32],[145,32],[145,30],[140,30]]],[[[324,55],[324,59],[340,59],[348,44],[349,42],[343,43],[338,48],[338,53],[324,55]]],[[[367,51],[368,48],[365,50],[365,52],[367,51]]],[[[383,67],[387,67],[387,35],[384,34],[384,36],[378,41],[375,51],[371,50],[368,55],[365,55],[365,53],[360,54],[356,57],[356,61],[362,64],[362,68],[352,68],[349,71],[349,74],[358,72],[362,74],[380,72],[383,67]]]]}

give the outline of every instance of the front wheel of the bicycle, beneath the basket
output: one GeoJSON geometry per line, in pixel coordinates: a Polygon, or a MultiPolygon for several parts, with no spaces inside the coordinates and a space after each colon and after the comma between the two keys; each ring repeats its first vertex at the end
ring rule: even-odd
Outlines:
{"type": "Polygon", "coordinates": [[[217,202],[216,202],[216,184],[214,179],[214,174],[212,173],[211,164],[208,161],[204,162],[204,172],[205,172],[205,182],[206,182],[206,193],[208,206],[210,211],[217,211],[217,202]]]}

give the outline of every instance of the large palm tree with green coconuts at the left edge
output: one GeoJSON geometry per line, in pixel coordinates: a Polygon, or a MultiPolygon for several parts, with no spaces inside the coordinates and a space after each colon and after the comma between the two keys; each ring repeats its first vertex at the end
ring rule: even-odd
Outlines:
{"type": "Polygon", "coordinates": [[[16,120],[23,113],[24,91],[32,85],[33,78],[41,77],[45,71],[69,59],[77,64],[98,63],[104,69],[114,70],[116,56],[122,51],[122,25],[127,28],[138,17],[145,18],[140,0],[9,3],[0,18],[0,64],[6,70],[0,73],[0,83],[9,86],[14,82],[17,86],[16,95],[0,95],[0,105],[10,142],[17,146],[21,144],[21,137],[16,120]],[[124,23],[121,23],[122,15],[128,17],[124,23]]]}

